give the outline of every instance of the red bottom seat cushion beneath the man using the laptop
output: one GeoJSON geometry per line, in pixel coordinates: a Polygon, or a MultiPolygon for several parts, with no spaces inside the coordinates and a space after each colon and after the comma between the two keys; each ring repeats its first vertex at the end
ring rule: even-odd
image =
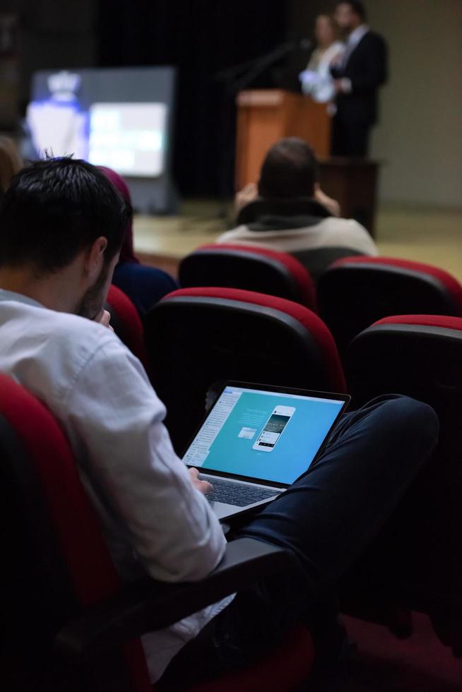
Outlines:
{"type": "Polygon", "coordinates": [[[314,662],[314,645],[306,628],[294,628],[276,650],[249,667],[188,688],[188,692],[283,692],[307,680],[314,662]]]}

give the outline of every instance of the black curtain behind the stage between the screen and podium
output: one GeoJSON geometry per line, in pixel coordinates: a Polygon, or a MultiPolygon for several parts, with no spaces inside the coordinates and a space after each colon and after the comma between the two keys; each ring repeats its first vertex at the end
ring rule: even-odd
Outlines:
{"type": "MultiPolygon", "coordinates": [[[[285,3],[267,0],[100,0],[101,66],[178,68],[174,174],[182,193],[217,194],[223,184],[230,191],[234,107],[214,76],[271,50],[286,26],[285,3]]],[[[271,85],[271,74],[258,84],[271,85]]]]}

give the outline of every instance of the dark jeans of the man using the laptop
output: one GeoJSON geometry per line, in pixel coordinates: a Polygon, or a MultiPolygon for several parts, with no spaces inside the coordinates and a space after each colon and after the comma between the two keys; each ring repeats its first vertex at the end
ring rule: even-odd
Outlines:
{"type": "Polygon", "coordinates": [[[248,664],[288,628],[310,626],[430,459],[438,430],[429,406],[399,395],[345,414],[308,472],[234,532],[289,549],[293,565],[239,592],[172,660],[166,688],[181,671],[191,682],[248,664]]]}

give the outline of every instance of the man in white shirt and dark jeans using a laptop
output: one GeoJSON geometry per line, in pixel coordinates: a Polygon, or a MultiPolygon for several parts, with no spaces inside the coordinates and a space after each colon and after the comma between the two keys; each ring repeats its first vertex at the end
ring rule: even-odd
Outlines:
{"type": "MultiPolygon", "coordinates": [[[[174,453],[165,407],[102,307],[128,220],[87,162],[44,160],[13,178],[0,203],[0,371],[61,423],[122,577],[200,580],[226,542],[211,486],[174,453]]],[[[345,414],[307,474],[234,528],[285,547],[293,567],[144,636],[151,679],[167,667],[164,681],[191,682],[242,666],[310,624],[430,457],[437,429],[430,407],[399,395],[345,414]]]]}

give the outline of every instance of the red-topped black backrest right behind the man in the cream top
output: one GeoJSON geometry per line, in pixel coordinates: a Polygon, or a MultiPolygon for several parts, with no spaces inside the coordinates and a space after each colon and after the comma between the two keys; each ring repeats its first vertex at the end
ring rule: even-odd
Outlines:
{"type": "Polygon", "coordinates": [[[316,309],[312,278],[292,256],[239,244],[203,245],[179,265],[183,288],[222,286],[293,300],[316,309]]]}

